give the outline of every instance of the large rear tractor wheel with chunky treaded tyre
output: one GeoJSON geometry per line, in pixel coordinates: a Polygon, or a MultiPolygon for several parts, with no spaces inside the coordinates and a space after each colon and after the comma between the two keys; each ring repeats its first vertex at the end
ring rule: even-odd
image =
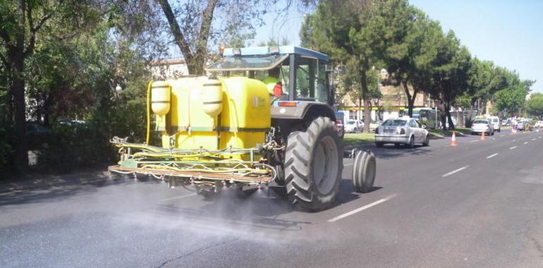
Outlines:
{"type": "Polygon", "coordinates": [[[315,118],[306,130],[288,135],[285,184],[288,200],[296,208],[315,212],[334,203],[343,170],[342,150],[334,123],[327,117],[315,118]]]}

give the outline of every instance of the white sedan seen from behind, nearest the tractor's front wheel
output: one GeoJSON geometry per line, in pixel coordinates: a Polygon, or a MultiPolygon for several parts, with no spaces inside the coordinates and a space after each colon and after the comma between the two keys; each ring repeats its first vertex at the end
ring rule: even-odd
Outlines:
{"type": "Polygon", "coordinates": [[[375,145],[383,147],[385,143],[405,144],[413,148],[415,143],[424,146],[430,144],[429,132],[413,118],[390,118],[375,129],[375,145]]]}

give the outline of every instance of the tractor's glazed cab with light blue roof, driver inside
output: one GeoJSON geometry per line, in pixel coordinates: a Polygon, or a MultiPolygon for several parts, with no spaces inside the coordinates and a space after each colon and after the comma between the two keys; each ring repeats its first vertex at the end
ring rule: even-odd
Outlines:
{"type": "Polygon", "coordinates": [[[224,77],[245,76],[261,80],[269,87],[274,101],[332,104],[326,71],[328,56],[325,54],[302,47],[281,46],[224,49],[222,55],[206,71],[224,77]]]}

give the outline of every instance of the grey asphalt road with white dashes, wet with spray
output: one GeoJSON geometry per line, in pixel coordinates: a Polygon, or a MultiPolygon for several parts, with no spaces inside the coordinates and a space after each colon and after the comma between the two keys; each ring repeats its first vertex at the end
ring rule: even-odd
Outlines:
{"type": "Polygon", "coordinates": [[[293,211],[102,173],[0,186],[0,267],[543,267],[543,131],[384,147],[371,193],[293,211]]]}

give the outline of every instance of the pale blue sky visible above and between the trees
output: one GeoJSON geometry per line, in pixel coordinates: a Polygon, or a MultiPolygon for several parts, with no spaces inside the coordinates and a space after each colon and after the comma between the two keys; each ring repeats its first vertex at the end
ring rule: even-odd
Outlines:
{"type": "MultiPolygon", "coordinates": [[[[542,0],[411,0],[410,4],[439,20],[444,31],[453,30],[472,56],[494,61],[536,80],[532,92],[543,93],[542,0]]],[[[257,30],[255,44],[269,37],[287,37],[300,44],[303,13],[291,11],[286,18],[271,14],[257,30]]]]}

